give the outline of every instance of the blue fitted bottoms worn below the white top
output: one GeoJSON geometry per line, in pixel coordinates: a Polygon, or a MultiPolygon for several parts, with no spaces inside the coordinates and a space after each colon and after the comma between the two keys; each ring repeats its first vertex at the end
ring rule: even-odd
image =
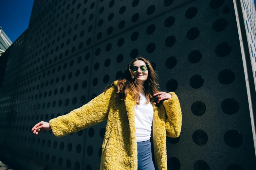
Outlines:
{"type": "Polygon", "coordinates": [[[150,139],[137,142],[138,170],[155,170],[150,139]]]}

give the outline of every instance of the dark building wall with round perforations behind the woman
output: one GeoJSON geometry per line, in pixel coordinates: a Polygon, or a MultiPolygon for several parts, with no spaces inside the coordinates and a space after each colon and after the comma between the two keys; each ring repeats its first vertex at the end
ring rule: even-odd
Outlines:
{"type": "Polygon", "coordinates": [[[27,158],[26,169],[32,160],[98,170],[106,121],[61,138],[31,129],[88,103],[142,56],[181,104],[168,169],[256,169],[255,16],[243,0],[35,0],[28,29],[3,54],[2,152],[27,158]]]}

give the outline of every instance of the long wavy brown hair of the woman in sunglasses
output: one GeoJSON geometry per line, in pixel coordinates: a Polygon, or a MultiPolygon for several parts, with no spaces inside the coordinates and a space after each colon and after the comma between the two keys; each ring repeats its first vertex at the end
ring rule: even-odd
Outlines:
{"type": "MultiPolygon", "coordinates": [[[[153,69],[151,62],[145,58],[138,57],[132,60],[127,67],[125,68],[125,71],[123,73],[123,76],[118,79],[117,88],[118,88],[118,94],[117,97],[119,97],[120,100],[123,100],[127,93],[131,93],[133,95],[133,100],[137,100],[137,104],[139,105],[140,102],[140,94],[139,92],[144,92],[148,104],[149,102],[151,104],[157,104],[158,96],[153,96],[153,94],[160,92],[159,91],[159,84],[158,84],[158,77],[153,69]],[[130,70],[130,66],[137,60],[144,61],[145,64],[149,64],[148,68],[148,78],[144,82],[144,87],[140,85],[139,80],[137,77],[133,76],[132,71],[130,70]]],[[[107,91],[109,88],[111,88],[114,85],[114,82],[106,87],[103,92],[107,91]]]]}

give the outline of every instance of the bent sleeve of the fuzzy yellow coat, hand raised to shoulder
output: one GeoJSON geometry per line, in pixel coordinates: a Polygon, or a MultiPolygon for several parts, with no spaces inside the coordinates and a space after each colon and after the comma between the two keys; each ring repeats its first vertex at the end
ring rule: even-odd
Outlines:
{"type": "Polygon", "coordinates": [[[179,137],[181,132],[181,107],[178,96],[174,92],[169,92],[172,95],[170,99],[163,100],[163,105],[166,111],[165,128],[168,137],[179,137]]]}

